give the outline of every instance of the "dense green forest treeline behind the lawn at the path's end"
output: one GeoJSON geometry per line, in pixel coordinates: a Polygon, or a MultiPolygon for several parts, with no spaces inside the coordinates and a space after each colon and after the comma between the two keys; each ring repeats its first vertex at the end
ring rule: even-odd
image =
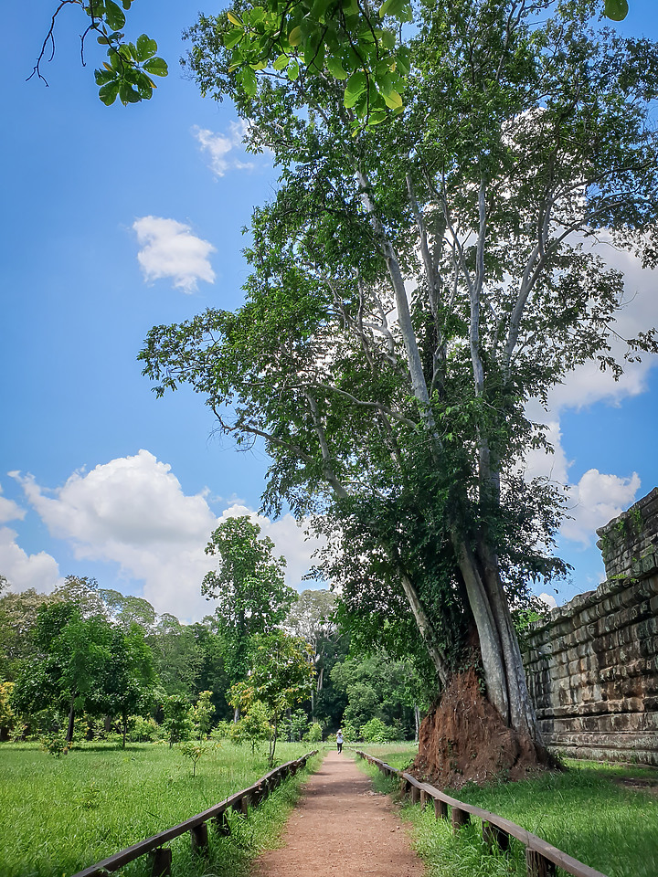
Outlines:
{"type": "MultiPolygon", "coordinates": [[[[68,576],[50,594],[5,593],[1,738],[40,739],[57,752],[66,741],[83,739],[125,745],[212,735],[254,744],[271,736],[272,722],[288,740],[319,740],[339,725],[348,739],[418,734],[419,712],[427,703],[412,662],[393,660],[384,650],[353,653],[349,632],[334,616],[330,591],[309,589],[289,597],[274,631],[248,635],[242,643],[240,679],[236,643],[219,611],[184,624],[158,614],[143,597],[77,576],[68,576]],[[295,683],[297,703],[293,698],[268,710],[260,701],[267,701],[267,693],[249,693],[248,683],[254,661],[268,660],[259,659],[259,648],[271,660],[281,643],[302,644],[294,654],[305,665],[301,676],[298,671],[303,682],[295,683]]],[[[273,671],[262,666],[261,671],[271,675],[284,663],[280,656],[273,671]]],[[[278,687],[290,690],[292,683],[278,687]]]]}

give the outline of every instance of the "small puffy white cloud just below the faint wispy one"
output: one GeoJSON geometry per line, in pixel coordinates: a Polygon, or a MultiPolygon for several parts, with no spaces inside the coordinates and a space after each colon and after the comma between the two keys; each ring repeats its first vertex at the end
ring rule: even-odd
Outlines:
{"type": "Polygon", "coordinates": [[[141,217],[133,222],[141,249],[137,259],[144,280],[151,282],[170,277],[174,286],[184,292],[196,291],[197,280],[213,283],[215,271],[209,256],[216,250],[191,228],[175,219],[141,217]]]}

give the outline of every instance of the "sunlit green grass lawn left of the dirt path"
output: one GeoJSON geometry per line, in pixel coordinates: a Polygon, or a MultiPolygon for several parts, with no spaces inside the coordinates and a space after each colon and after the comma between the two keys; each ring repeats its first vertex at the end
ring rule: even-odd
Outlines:
{"type": "MultiPolygon", "coordinates": [[[[308,744],[279,745],[279,763],[308,744]]],[[[0,746],[0,877],[65,877],[138,840],[194,816],[267,773],[267,758],[229,743],[192,766],[174,748],[135,744],[82,745],[56,759],[36,744],[0,746]]],[[[249,819],[237,817],[233,836],[211,837],[207,873],[245,873],[249,858],[281,829],[299,780],[278,789],[249,819]],[[222,862],[230,863],[228,865],[222,862]]],[[[211,829],[212,831],[212,829],[211,829]]],[[[189,837],[172,844],[176,877],[206,866],[189,853],[189,837]]],[[[150,873],[150,858],[123,869],[150,873]]]]}

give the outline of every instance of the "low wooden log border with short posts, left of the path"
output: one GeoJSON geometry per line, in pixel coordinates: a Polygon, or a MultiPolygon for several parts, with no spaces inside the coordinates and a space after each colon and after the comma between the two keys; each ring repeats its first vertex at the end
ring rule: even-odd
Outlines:
{"type": "Polygon", "coordinates": [[[313,749],[313,752],[302,755],[302,758],[297,758],[295,761],[289,761],[285,765],[275,767],[269,774],[260,777],[253,786],[241,789],[235,795],[219,801],[213,807],[204,810],[202,813],[197,813],[196,816],[186,819],[185,822],[180,822],[171,829],[161,831],[159,834],[154,834],[152,838],[140,840],[139,843],[133,844],[132,847],[115,852],[108,859],[103,859],[103,861],[85,868],[84,871],[79,871],[73,877],[107,877],[111,872],[118,871],[124,865],[139,859],[147,853],[151,853],[153,859],[153,877],[169,877],[171,874],[172,851],[164,847],[165,843],[179,838],[186,831],[189,831],[192,849],[199,855],[205,855],[208,845],[207,822],[215,821],[220,834],[229,834],[230,829],[228,827],[228,819],[226,818],[226,811],[228,809],[233,808],[239,813],[247,813],[248,808],[256,807],[261,801],[264,801],[271,791],[279,786],[284,779],[294,776],[298,770],[306,765],[308,759],[313,755],[317,755],[317,753],[318,750],[313,749]]]}

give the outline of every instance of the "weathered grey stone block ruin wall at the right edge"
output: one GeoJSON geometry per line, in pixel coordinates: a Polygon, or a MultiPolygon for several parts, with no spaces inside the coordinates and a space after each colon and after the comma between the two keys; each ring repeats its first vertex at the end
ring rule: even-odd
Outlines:
{"type": "Polygon", "coordinates": [[[658,488],[597,534],[607,581],[533,625],[528,687],[551,748],[658,766],[658,488]]]}

